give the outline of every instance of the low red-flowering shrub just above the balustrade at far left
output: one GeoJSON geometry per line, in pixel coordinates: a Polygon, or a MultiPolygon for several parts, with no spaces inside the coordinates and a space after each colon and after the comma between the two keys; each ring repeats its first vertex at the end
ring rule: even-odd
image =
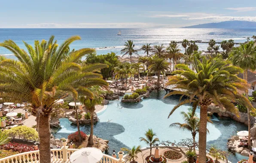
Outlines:
{"type": "Polygon", "coordinates": [[[18,151],[19,153],[23,152],[29,152],[29,151],[34,151],[33,146],[27,146],[23,144],[18,144],[18,143],[8,143],[5,145],[0,145],[1,150],[12,150],[12,151],[18,151]]]}

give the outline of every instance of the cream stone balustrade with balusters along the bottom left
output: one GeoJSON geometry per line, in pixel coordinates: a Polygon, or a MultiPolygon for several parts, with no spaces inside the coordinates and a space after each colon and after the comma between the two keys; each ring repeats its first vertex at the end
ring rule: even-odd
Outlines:
{"type": "MultiPolygon", "coordinates": [[[[70,163],[70,155],[79,149],[62,146],[60,149],[51,149],[52,163],[70,163]]],[[[40,163],[39,150],[15,154],[9,157],[1,158],[0,163],[40,163]]],[[[99,163],[124,163],[123,154],[119,154],[119,159],[103,154],[99,163]]]]}

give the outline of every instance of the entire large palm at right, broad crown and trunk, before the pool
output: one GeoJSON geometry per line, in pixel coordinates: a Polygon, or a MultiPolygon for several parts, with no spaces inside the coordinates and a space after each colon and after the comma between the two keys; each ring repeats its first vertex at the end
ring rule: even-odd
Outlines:
{"type": "Polygon", "coordinates": [[[253,108],[246,97],[238,93],[247,90],[247,83],[238,78],[237,74],[242,72],[241,68],[228,65],[225,61],[219,61],[205,57],[202,61],[194,58],[193,66],[195,72],[185,64],[177,64],[176,71],[169,77],[166,85],[174,85],[174,89],[184,91],[173,91],[165,97],[181,94],[189,97],[180,101],[174,106],[168,117],[180,106],[186,103],[193,103],[193,110],[200,107],[199,126],[199,163],[204,163],[206,159],[206,135],[207,135],[207,108],[211,103],[226,108],[229,112],[238,115],[238,109],[232,102],[241,101],[244,106],[253,108]]]}

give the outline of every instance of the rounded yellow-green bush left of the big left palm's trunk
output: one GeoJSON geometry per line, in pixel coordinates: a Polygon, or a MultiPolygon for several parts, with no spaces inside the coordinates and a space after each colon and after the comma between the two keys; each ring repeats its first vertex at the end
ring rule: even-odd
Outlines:
{"type": "Polygon", "coordinates": [[[24,139],[24,140],[37,140],[38,133],[34,128],[27,127],[27,126],[18,126],[13,127],[9,130],[5,130],[6,134],[9,137],[24,139]]]}

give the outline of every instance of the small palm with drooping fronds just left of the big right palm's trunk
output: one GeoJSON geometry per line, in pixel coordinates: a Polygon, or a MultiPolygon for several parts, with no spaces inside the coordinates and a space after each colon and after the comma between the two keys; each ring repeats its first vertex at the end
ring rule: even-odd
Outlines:
{"type": "MultiPolygon", "coordinates": [[[[189,108],[189,112],[180,112],[180,114],[183,117],[184,124],[181,123],[173,123],[170,124],[170,127],[175,127],[180,130],[189,131],[192,134],[193,143],[194,143],[194,151],[195,151],[195,136],[199,132],[199,118],[197,117],[197,114],[195,113],[195,110],[192,110],[189,108]]],[[[207,121],[209,123],[212,123],[210,119],[208,118],[207,121]]],[[[209,130],[207,130],[207,133],[209,133],[209,130]]]]}

